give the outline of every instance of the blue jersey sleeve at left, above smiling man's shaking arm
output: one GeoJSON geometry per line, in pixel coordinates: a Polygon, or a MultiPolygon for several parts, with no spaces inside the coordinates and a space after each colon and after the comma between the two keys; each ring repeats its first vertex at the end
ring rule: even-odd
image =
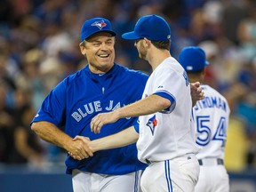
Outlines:
{"type": "Polygon", "coordinates": [[[58,84],[44,99],[33,122],[47,121],[60,127],[64,124],[66,109],[66,81],[58,84]]]}

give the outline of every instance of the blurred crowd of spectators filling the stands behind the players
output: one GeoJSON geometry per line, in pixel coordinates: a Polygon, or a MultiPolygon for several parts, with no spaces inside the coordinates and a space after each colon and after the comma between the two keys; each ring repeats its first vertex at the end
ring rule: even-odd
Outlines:
{"type": "Polygon", "coordinates": [[[231,108],[226,165],[230,172],[256,169],[255,0],[1,0],[0,163],[43,168],[66,152],[39,140],[29,123],[44,97],[66,76],[84,68],[84,20],[111,20],[116,63],[150,74],[133,42],[121,38],[142,15],[158,14],[172,29],[174,58],[198,45],[210,65],[206,83],[231,108]]]}

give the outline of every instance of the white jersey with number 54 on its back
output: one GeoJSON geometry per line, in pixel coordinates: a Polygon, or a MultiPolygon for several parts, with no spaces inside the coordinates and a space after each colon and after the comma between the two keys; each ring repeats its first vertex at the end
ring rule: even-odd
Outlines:
{"type": "Polygon", "coordinates": [[[193,108],[196,143],[201,148],[196,157],[223,159],[230,113],[228,101],[209,85],[201,87],[205,98],[193,108]]]}

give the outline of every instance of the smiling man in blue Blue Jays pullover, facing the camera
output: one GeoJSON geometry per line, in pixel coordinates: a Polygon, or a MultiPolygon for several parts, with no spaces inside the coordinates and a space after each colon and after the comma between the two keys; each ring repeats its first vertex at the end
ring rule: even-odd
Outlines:
{"type": "Polygon", "coordinates": [[[123,118],[106,125],[100,134],[91,132],[93,116],[140,100],[148,80],[147,75],[114,62],[115,36],[109,20],[93,18],[84,22],[79,46],[88,65],[49,93],[31,123],[42,139],[76,156],[68,155],[65,162],[67,173],[72,174],[74,192],[139,191],[140,175],[147,166],[138,160],[134,143],[92,156],[82,140],[73,140],[76,135],[99,139],[137,122],[137,117],[123,118]]]}

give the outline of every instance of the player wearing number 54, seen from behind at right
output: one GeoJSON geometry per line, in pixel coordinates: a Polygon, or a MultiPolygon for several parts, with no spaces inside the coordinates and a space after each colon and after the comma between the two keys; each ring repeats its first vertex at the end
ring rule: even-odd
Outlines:
{"type": "MultiPolygon", "coordinates": [[[[195,46],[180,52],[179,62],[188,73],[189,80],[204,82],[204,67],[208,65],[204,51],[195,46]]],[[[196,192],[228,192],[228,173],[224,167],[224,150],[228,128],[227,100],[212,87],[202,84],[204,100],[193,108],[196,144],[201,148],[196,155],[200,164],[196,192]]]]}

